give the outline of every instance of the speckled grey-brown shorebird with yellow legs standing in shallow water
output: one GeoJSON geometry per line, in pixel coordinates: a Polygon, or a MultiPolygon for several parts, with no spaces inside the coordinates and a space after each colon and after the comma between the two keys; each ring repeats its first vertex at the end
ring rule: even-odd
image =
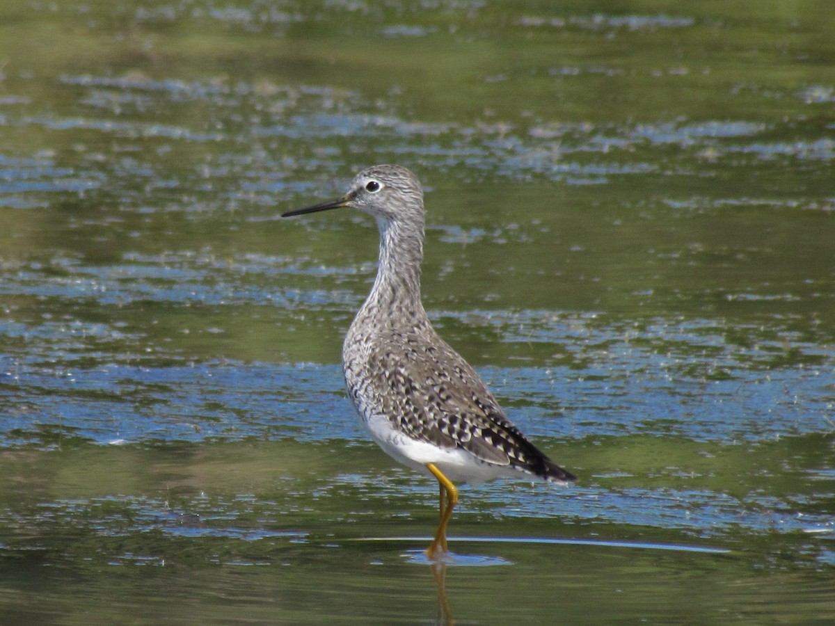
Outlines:
{"type": "Polygon", "coordinates": [[[566,484],[557,466],[504,415],[487,386],[429,323],[420,293],[423,190],[408,169],[363,169],[342,198],[283,217],[357,209],[377,220],[380,262],[348,329],[342,368],[348,395],[374,441],[403,465],[438,479],[440,522],[428,558],[448,552],[454,482],[537,477],[566,484]]]}

